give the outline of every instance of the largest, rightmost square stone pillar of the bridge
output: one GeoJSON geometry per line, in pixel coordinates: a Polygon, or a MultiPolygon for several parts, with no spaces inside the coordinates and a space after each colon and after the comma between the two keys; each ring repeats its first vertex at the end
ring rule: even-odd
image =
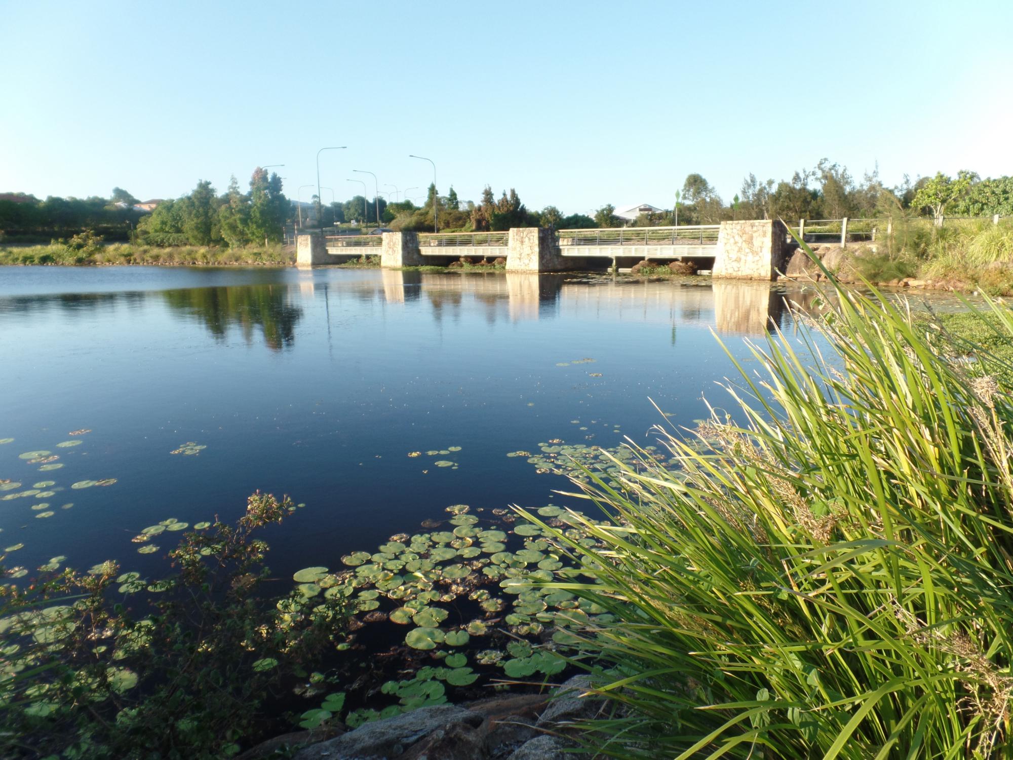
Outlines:
{"type": "Polygon", "coordinates": [[[787,234],[784,224],[776,219],[721,222],[713,276],[776,280],[787,265],[787,234]]]}

